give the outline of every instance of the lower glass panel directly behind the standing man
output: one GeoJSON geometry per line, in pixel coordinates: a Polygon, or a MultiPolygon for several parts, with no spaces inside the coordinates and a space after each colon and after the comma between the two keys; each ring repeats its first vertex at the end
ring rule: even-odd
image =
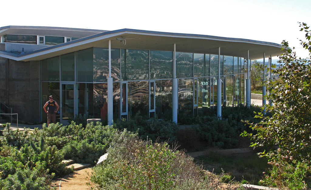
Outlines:
{"type": "MultiPolygon", "coordinates": [[[[43,123],[47,123],[47,114],[44,112],[43,106],[44,104],[49,101],[49,96],[53,96],[53,100],[55,100],[58,105],[60,103],[59,101],[59,82],[41,82],[41,94],[42,94],[42,121],[43,123]]],[[[59,105],[60,106],[60,105],[59,105]]],[[[60,122],[60,115],[56,113],[56,123],[60,122]]]]}

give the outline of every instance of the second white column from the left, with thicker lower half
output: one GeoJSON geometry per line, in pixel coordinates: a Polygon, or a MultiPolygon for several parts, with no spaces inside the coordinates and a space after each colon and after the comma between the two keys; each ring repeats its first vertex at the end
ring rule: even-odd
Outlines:
{"type": "Polygon", "coordinates": [[[177,123],[178,113],[178,79],[176,78],[176,44],[174,44],[173,53],[173,122],[177,123]]]}

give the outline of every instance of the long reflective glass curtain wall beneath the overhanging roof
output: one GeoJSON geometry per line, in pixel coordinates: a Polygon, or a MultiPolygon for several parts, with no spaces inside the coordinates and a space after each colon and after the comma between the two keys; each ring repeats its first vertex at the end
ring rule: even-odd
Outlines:
{"type": "MultiPolygon", "coordinates": [[[[109,76],[108,48],[89,48],[40,61],[42,101],[53,93],[60,99],[59,82],[76,82],[78,114],[107,121],[107,78],[109,76]],[[75,71],[76,70],[76,71],[75,71]],[[76,75],[75,75],[76,73],[76,75]],[[57,87],[56,87],[57,86],[57,87]]],[[[176,53],[179,115],[203,114],[217,104],[218,60],[223,84],[222,103],[244,103],[244,58],[204,53],[176,53]],[[235,77],[233,76],[235,75],[235,77]],[[225,76],[225,77],[224,77],[225,76]],[[225,89],[224,89],[225,87],[225,89]],[[234,98],[235,97],[235,102],[234,98]],[[213,102],[213,104],[211,104],[213,102]]],[[[149,99],[155,98],[158,118],[172,118],[173,52],[111,49],[113,77],[113,119],[121,117],[121,88],[125,112],[133,117],[140,112],[149,116],[149,99]],[[122,76],[121,76],[122,75],[122,76]],[[149,81],[155,85],[150,94],[149,81]],[[120,84],[122,81],[122,86],[120,84]],[[125,86],[124,86],[125,85],[125,86]],[[124,88],[123,88],[124,87],[124,88]],[[150,97],[152,95],[153,97],[150,97]]],[[[153,101],[152,101],[153,102],[153,101]]],[[[122,112],[121,112],[122,111],[122,112]]],[[[124,113],[124,112],[123,112],[124,113]]],[[[44,114],[44,113],[43,113],[44,114]]]]}

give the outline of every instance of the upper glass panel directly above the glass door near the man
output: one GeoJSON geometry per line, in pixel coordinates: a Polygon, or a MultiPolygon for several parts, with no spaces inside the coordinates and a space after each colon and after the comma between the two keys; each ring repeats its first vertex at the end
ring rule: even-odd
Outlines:
{"type": "Polygon", "coordinates": [[[75,53],[68,53],[60,56],[61,80],[75,80],[75,53]]]}

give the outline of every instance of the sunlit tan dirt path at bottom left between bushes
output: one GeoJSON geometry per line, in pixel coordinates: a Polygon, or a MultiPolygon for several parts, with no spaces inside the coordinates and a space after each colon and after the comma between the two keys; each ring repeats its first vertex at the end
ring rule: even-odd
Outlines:
{"type": "MultiPolygon", "coordinates": [[[[52,181],[51,186],[56,187],[60,190],[81,190],[81,189],[90,189],[91,187],[95,188],[95,185],[88,186],[86,183],[91,183],[90,175],[92,169],[85,168],[74,173],[68,174],[62,179],[57,179],[52,181]],[[59,186],[60,184],[60,186],[59,186]]],[[[92,184],[92,183],[91,183],[92,184]]]]}

